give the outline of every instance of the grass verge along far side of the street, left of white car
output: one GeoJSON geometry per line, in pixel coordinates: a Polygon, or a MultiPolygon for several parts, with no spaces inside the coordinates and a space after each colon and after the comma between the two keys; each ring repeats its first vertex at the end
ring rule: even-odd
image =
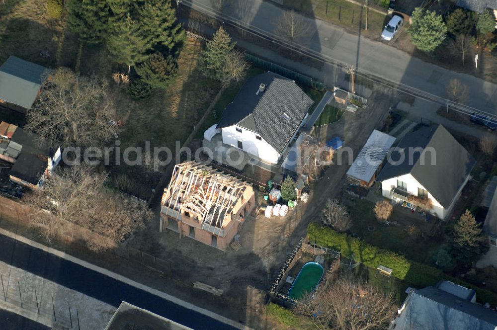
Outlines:
{"type": "MultiPolygon", "coordinates": [[[[382,0],[382,2],[389,1],[382,0]]],[[[368,30],[365,31],[366,10],[361,9],[361,6],[346,0],[283,0],[283,4],[295,8],[298,11],[305,12],[310,16],[315,16],[353,30],[357,30],[359,27],[359,16],[362,11],[361,33],[373,37],[379,37],[381,35],[387,16],[386,14],[380,14],[376,11],[369,10],[368,30]]]]}

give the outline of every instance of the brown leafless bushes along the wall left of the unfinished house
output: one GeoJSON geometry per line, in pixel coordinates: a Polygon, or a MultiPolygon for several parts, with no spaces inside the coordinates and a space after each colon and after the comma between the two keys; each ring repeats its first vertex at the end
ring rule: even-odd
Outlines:
{"type": "Polygon", "coordinates": [[[106,174],[86,166],[56,170],[42,189],[26,196],[28,204],[44,211],[32,221],[47,239],[72,237],[74,224],[100,235],[82,233],[89,248],[117,246],[152,214],[125,195],[106,192],[102,189],[105,179],[106,174]]]}

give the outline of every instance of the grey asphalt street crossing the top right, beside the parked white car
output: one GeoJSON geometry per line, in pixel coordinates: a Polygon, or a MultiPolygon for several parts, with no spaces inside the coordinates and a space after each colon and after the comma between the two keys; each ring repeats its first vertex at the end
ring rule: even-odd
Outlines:
{"type": "MultiPolygon", "coordinates": [[[[268,1],[239,0],[226,1],[220,12],[215,11],[215,3],[218,2],[216,0],[182,0],[181,5],[191,6],[211,15],[221,15],[225,21],[237,22],[250,30],[263,32],[269,36],[277,35],[275,22],[287,10],[268,1]]],[[[491,114],[497,113],[497,85],[494,83],[423,62],[389,46],[386,42],[377,42],[347,33],[320,19],[302,17],[309,28],[306,37],[298,43],[302,47],[319,53],[323,58],[330,59],[330,62],[341,65],[353,64],[359,73],[401,83],[441,98],[447,97],[446,88],[449,81],[457,79],[468,86],[469,97],[464,102],[465,105],[491,114]]],[[[266,58],[270,57],[266,56],[266,58]]],[[[480,56],[480,61],[481,58],[482,56],[480,56]]],[[[284,62],[277,61],[281,65],[288,66],[284,62]]],[[[313,70],[314,68],[306,68],[304,65],[293,69],[325,83],[336,83],[336,69],[331,65],[325,65],[319,72],[313,70]]]]}

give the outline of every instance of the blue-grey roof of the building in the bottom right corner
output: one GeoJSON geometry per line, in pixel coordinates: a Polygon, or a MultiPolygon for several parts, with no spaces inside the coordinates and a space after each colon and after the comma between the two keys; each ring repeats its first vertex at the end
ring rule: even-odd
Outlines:
{"type": "Polygon", "coordinates": [[[429,286],[411,294],[395,330],[495,330],[497,313],[429,286]]]}

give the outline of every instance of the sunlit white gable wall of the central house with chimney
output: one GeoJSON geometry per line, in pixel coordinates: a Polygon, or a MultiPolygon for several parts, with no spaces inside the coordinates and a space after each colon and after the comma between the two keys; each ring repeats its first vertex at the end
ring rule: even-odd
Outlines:
{"type": "Polygon", "coordinates": [[[280,154],[271,147],[264,139],[258,140],[257,133],[237,125],[228,126],[221,129],[223,135],[223,143],[229,146],[238,148],[238,141],[242,142],[243,151],[254,155],[260,160],[269,163],[277,164],[280,154]],[[237,131],[242,130],[242,133],[237,131]]]}

